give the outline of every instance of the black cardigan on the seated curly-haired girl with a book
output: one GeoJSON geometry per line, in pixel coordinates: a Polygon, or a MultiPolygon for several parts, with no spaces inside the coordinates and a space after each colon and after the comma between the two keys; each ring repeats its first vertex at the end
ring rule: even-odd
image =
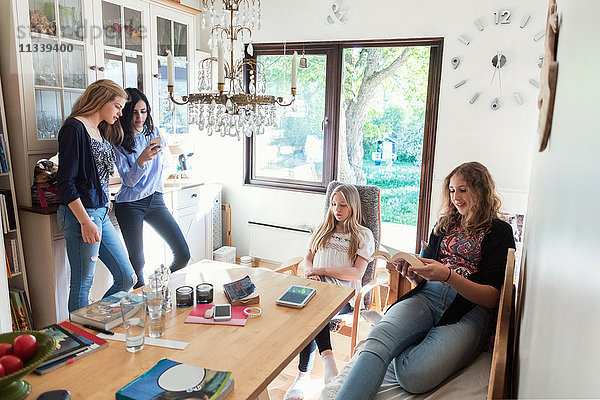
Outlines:
{"type": "MultiPolygon", "coordinates": [[[[433,231],[431,232],[429,244],[423,254],[424,258],[439,261],[440,244],[444,236],[435,235],[433,231]]],[[[515,248],[512,227],[508,223],[496,219],[492,222],[491,230],[483,237],[481,242],[481,261],[477,265],[477,271],[470,274],[467,279],[481,285],[490,285],[500,290],[504,284],[506,256],[509,248],[515,248]]],[[[427,280],[423,279],[417,287],[406,293],[398,301],[407,299],[419,292],[426,283],[427,280]]],[[[473,307],[475,307],[475,303],[457,293],[454,301],[450,304],[444,315],[442,315],[437,325],[448,325],[458,322],[473,307]]]]}

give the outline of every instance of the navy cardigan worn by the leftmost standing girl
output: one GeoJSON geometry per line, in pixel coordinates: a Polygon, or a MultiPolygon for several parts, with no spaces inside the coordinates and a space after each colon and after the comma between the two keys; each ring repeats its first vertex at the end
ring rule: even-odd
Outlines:
{"type": "Polygon", "coordinates": [[[64,205],[77,199],[81,199],[85,208],[108,204],[92,155],[90,135],[83,123],[75,118],[66,120],[58,132],[57,180],[64,205]]]}

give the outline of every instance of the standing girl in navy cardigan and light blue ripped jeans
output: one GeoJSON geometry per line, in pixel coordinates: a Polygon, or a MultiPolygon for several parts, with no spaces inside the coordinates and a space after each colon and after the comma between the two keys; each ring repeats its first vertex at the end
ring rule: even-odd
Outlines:
{"type": "Polygon", "coordinates": [[[108,143],[123,135],[115,124],[127,93],[108,79],[92,83],[73,105],[58,133],[58,189],[62,204],[57,219],[65,235],[71,266],[69,311],[89,304],[98,258],[113,276],[103,297],[129,290],[135,273],[108,217],[108,181],[115,153],[108,143]]]}

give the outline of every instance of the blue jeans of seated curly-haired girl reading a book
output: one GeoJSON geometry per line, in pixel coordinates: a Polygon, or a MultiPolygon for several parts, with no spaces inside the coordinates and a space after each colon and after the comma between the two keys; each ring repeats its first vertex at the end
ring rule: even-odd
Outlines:
{"type": "Polygon", "coordinates": [[[490,310],[475,306],[458,322],[435,326],[456,296],[450,285],[427,282],[394,304],[373,327],[336,399],[373,399],[390,362],[398,384],[425,393],[465,367],[488,336],[490,310]]]}

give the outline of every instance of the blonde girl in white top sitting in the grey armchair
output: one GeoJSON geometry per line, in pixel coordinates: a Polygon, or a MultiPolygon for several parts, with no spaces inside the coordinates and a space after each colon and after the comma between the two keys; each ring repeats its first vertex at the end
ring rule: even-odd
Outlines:
{"type": "MultiPolygon", "coordinates": [[[[331,193],[325,219],[311,236],[302,262],[307,278],[360,290],[362,276],[375,249],[373,233],[362,226],[361,221],[361,203],[356,188],[352,185],[336,187],[331,193]]],[[[352,308],[347,304],[340,313],[350,311],[352,308]]],[[[316,347],[323,360],[325,383],[337,375],[329,325],[326,325],[300,353],[298,375],[284,399],[304,398],[316,347]]]]}

